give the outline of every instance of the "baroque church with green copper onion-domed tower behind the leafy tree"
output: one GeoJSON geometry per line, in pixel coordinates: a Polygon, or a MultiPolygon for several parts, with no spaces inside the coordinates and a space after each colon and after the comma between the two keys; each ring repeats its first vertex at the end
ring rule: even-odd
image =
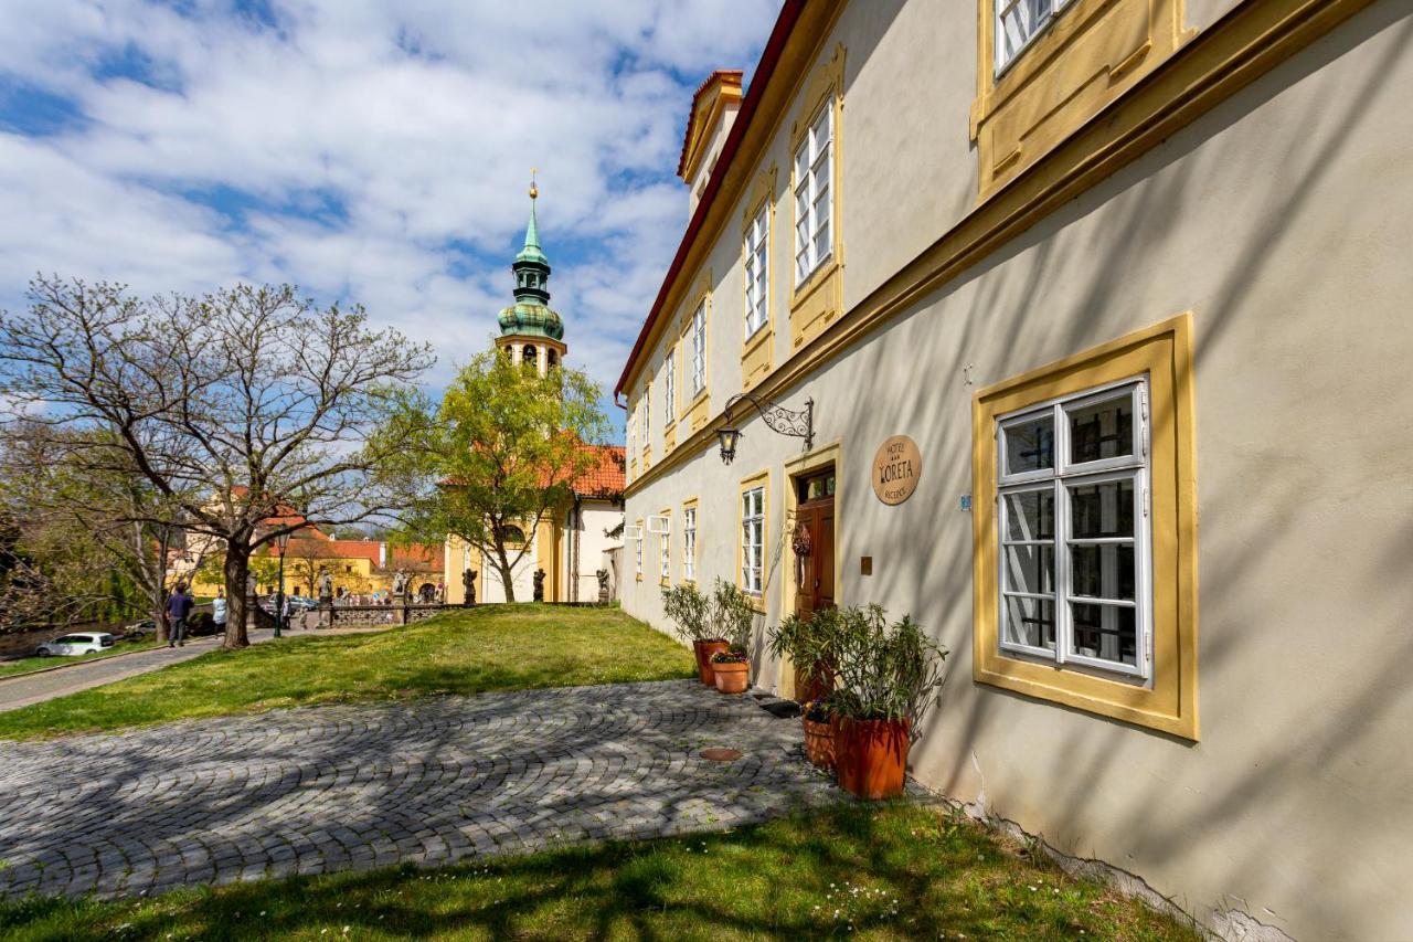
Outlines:
{"type": "MultiPolygon", "coordinates": [[[[550,307],[550,259],[540,245],[536,202],[540,191],[530,187],[530,222],[524,245],[510,266],[514,276],[514,303],[497,318],[500,332],[495,347],[513,362],[533,366],[540,375],[557,369],[568,352],[564,342],[564,318],[550,307]]],[[[592,603],[599,595],[595,573],[608,567],[608,553],[619,546],[609,533],[623,521],[623,448],[591,446],[596,461],[574,482],[565,506],[524,533],[530,546],[512,571],[516,601],[534,598],[536,573],[543,571],[544,601],[592,603]]],[[[478,603],[503,603],[506,590],[500,576],[485,564],[480,550],[456,536],[448,536],[442,549],[448,573],[447,601],[466,601],[466,578],[472,578],[478,603]]]]}

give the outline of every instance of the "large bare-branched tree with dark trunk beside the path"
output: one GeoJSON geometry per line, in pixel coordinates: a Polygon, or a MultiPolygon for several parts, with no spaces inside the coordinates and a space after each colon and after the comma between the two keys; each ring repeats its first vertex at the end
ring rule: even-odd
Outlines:
{"type": "Polygon", "coordinates": [[[138,298],[124,286],[40,277],[0,314],[0,399],[62,430],[68,458],[131,475],[155,499],[134,523],[179,525],[225,552],[226,648],[246,636],[253,550],[307,523],[390,509],[370,438],[432,364],[425,345],[318,310],[290,286],[138,298]]]}

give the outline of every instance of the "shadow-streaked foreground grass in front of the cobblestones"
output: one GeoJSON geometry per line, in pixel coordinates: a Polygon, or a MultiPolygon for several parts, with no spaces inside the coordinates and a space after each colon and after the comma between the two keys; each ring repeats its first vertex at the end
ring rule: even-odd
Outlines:
{"type": "Polygon", "coordinates": [[[11,939],[1135,939],[1190,925],[962,816],[841,805],[723,835],[141,901],[0,904],[11,939]]]}

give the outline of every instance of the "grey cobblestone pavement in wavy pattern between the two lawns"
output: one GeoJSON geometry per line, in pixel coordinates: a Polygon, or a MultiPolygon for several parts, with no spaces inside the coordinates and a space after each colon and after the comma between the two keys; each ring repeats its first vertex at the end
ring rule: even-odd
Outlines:
{"type": "Polygon", "coordinates": [[[839,792],[798,720],[691,680],[331,706],[0,745],[0,894],[437,864],[764,820],[839,792]],[[740,750],[732,762],[702,748],[740,750]]]}

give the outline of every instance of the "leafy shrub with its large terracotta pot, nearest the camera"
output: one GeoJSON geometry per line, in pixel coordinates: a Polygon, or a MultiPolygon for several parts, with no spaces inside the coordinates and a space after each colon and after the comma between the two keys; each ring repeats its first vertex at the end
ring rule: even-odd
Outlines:
{"type": "Polygon", "coordinates": [[[907,750],[937,689],[947,651],[911,618],[887,624],[879,605],[838,614],[829,694],[839,786],[859,798],[903,793],[907,750]]]}

